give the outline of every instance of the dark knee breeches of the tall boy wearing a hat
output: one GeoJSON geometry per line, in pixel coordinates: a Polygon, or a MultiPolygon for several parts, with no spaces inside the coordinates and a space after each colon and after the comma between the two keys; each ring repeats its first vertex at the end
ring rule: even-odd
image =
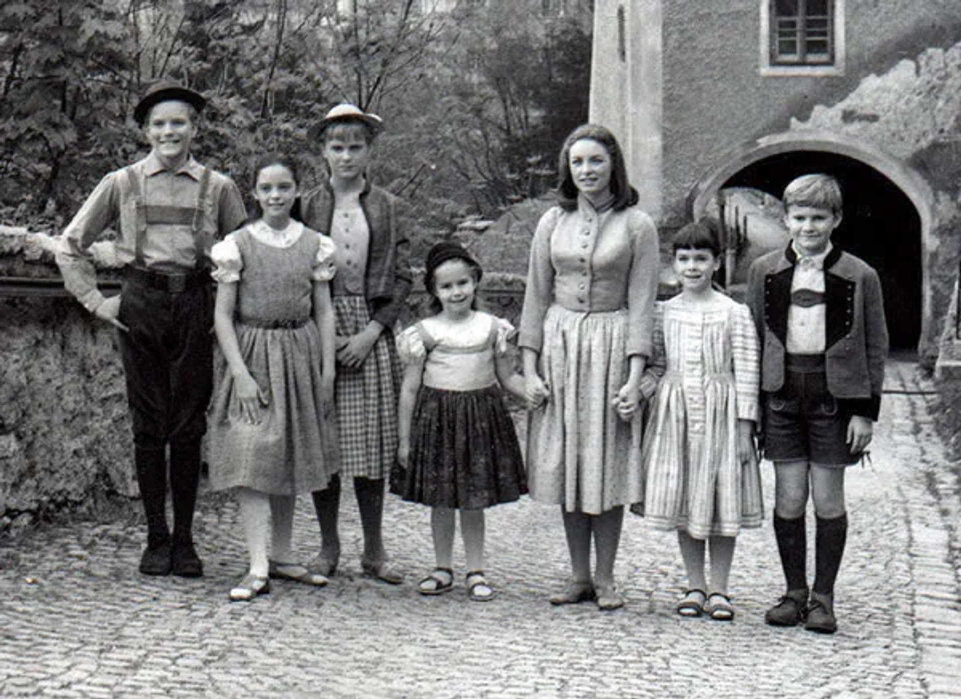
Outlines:
{"type": "Polygon", "coordinates": [[[213,387],[209,271],[128,266],[117,319],[130,328],[117,334],[136,446],[200,439],[213,387]]]}

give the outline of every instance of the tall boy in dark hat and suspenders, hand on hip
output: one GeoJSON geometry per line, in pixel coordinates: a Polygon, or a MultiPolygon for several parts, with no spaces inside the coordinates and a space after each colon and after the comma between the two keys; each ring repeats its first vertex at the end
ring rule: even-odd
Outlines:
{"type": "Polygon", "coordinates": [[[147,157],[109,173],[63,231],[63,282],[115,325],[134,427],[136,478],[147,517],[146,575],[198,577],[192,524],[201,439],[212,388],[209,252],[246,218],[230,178],[190,155],[204,97],[181,84],[151,86],[134,108],[147,157]],[[109,227],[125,264],[119,296],[97,289],[89,248],[109,227]],[[166,518],[167,451],[174,529],[166,518]]]}

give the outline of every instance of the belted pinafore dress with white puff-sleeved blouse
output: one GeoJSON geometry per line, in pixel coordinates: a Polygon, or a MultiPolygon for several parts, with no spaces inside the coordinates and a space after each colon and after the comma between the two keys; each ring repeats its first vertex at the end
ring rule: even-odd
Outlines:
{"type": "Polygon", "coordinates": [[[219,282],[237,281],[240,354],[269,404],[262,421],[240,419],[234,378],[220,357],[209,414],[210,484],[261,493],[321,490],[339,459],[333,415],[320,400],[321,344],[313,282],[333,278],[333,242],[298,222],[277,235],[249,224],[213,246],[219,282]]]}

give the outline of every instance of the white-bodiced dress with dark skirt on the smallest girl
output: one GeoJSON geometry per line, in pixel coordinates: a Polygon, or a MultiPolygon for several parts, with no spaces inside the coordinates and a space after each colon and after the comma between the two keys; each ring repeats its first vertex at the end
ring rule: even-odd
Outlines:
{"type": "Polygon", "coordinates": [[[480,509],[528,492],[521,447],[495,372],[514,328],[488,313],[464,324],[428,318],[397,338],[406,364],[424,362],[411,420],[405,500],[480,509]]]}

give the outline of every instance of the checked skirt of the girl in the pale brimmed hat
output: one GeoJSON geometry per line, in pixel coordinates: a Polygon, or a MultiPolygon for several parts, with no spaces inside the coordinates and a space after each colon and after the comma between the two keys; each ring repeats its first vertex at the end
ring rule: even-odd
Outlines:
{"type": "MultiPolygon", "coordinates": [[[[362,296],[335,296],[333,310],[338,335],[356,335],[370,323],[362,296]]],[[[385,478],[390,472],[397,460],[400,383],[400,360],[390,328],[384,328],[360,367],[337,365],[334,399],[342,476],[385,478]]]]}

